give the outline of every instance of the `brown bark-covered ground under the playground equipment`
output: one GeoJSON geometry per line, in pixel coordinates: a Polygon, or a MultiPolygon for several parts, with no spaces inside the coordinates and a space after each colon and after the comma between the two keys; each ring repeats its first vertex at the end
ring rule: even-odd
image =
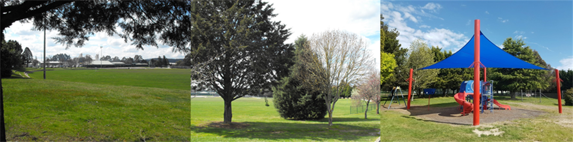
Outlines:
{"type": "MultiPolygon", "coordinates": [[[[410,110],[406,108],[390,109],[402,112],[405,115],[415,116],[425,121],[434,121],[437,123],[447,123],[454,125],[472,125],[473,113],[462,116],[460,107],[430,107],[411,106],[410,110]]],[[[511,121],[515,119],[533,118],[543,115],[547,112],[531,109],[524,109],[512,106],[511,110],[499,109],[494,107],[493,112],[484,111],[480,114],[480,124],[495,123],[498,121],[511,121]]]]}

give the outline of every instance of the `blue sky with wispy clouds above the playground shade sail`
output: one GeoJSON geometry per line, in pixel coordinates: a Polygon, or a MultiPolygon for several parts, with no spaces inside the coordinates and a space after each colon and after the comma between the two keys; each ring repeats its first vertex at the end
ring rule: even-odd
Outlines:
{"type": "Polygon", "coordinates": [[[503,48],[511,37],[539,52],[553,68],[573,70],[573,1],[380,1],[383,22],[402,48],[416,39],[456,52],[481,32],[503,48]]]}

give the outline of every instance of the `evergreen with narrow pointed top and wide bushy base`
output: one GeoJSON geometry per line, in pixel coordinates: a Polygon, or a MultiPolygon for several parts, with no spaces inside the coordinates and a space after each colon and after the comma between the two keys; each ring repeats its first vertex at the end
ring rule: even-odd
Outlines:
{"type": "Polygon", "coordinates": [[[283,77],[277,86],[273,86],[274,108],[285,119],[323,119],[327,114],[324,98],[317,90],[303,85],[300,76],[308,74],[308,65],[305,65],[303,56],[312,56],[308,50],[308,40],[300,35],[295,41],[295,64],[291,66],[291,73],[283,77]]]}

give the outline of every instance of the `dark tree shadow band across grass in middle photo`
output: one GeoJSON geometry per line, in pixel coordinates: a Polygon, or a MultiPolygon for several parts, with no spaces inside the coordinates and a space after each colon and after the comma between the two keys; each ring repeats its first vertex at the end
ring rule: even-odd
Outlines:
{"type": "MultiPolygon", "coordinates": [[[[217,127],[220,122],[191,127],[196,133],[211,133],[221,137],[264,139],[264,140],[313,140],[327,141],[331,139],[342,141],[355,141],[364,136],[379,136],[379,125],[360,127],[356,125],[336,124],[303,124],[297,121],[292,123],[281,122],[242,122],[237,127],[217,127]]],[[[352,120],[352,119],[349,119],[352,120]]],[[[327,120],[328,121],[328,120],[327,120]]],[[[371,120],[379,121],[379,120],[371,120]]]]}

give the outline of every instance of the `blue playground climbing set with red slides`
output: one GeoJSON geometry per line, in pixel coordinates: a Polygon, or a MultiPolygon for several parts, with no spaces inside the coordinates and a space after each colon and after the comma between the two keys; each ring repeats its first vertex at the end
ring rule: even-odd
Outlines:
{"type": "MultiPolygon", "coordinates": [[[[472,104],[472,100],[474,96],[474,90],[472,88],[475,82],[473,80],[464,81],[460,85],[460,93],[454,95],[454,99],[461,105],[462,108],[462,115],[468,115],[468,113],[474,111],[474,104],[472,104]]],[[[500,104],[497,100],[493,99],[493,81],[480,81],[480,113],[484,113],[484,109],[489,110],[489,112],[493,113],[493,104],[497,105],[500,108],[509,109],[511,107],[509,105],[500,104]]]]}

